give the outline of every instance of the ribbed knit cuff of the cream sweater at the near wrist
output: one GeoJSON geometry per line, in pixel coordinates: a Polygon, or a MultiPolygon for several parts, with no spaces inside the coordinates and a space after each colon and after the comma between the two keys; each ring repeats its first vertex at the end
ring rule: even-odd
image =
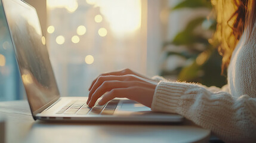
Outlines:
{"type": "Polygon", "coordinates": [[[186,91],[187,85],[179,82],[159,82],[155,89],[151,109],[168,113],[176,113],[178,101],[186,91]]]}

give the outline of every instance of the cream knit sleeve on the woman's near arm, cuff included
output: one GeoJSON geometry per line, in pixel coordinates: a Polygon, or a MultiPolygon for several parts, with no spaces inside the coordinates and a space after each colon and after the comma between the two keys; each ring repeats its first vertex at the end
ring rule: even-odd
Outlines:
{"type": "Polygon", "coordinates": [[[212,92],[192,83],[162,81],[156,86],[153,111],[178,113],[227,142],[256,141],[256,99],[212,92]]]}

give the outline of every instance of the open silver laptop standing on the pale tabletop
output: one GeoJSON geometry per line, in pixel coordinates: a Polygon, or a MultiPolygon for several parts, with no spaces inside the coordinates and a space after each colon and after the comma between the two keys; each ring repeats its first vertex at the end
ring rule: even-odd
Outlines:
{"type": "Polygon", "coordinates": [[[33,119],[156,123],[184,119],[178,114],[153,112],[149,107],[124,98],[90,108],[86,104],[87,97],[61,97],[35,8],[20,0],[1,2],[33,119]]]}

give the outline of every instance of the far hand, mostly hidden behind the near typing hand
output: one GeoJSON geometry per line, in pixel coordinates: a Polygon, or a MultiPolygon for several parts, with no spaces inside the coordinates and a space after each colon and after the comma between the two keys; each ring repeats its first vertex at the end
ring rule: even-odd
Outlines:
{"type": "MultiPolygon", "coordinates": [[[[124,76],[124,75],[127,75],[127,74],[133,74],[135,76],[141,77],[142,79],[149,80],[149,82],[156,82],[155,80],[152,80],[149,77],[143,76],[139,73],[136,73],[136,72],[134,72],[130,69],[124,69],[124,70],[121,70],[121,71],[114,71],[114,72],[111,72],[111,73],[103,73],[103,74],[100,74],[100,76],[124,76]]],[[[100,77],[100,76],[98,76],[98,77],[100,77]]],[[[94,83],[97,81],[98,77],[93,80],[93,82],[92,82],[92,84],[89,88],[89,91],[91,91],[91,88],[94,85],[94,83]]]]}

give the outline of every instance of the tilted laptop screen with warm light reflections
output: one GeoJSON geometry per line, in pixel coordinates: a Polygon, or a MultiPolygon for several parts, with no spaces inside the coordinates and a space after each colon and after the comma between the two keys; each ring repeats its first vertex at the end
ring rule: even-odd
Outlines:
{"type": "Polygon", "coordinates": [[[60,97],[36,10],[20,0],[2,0],[21,79],[32,113],[60,97]]]}

